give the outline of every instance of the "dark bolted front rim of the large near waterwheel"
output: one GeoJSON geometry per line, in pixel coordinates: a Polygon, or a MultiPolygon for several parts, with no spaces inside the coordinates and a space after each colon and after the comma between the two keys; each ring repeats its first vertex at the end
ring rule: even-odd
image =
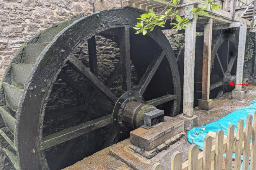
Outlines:
{"type": "MultiPolygon", "coordinates": [[[[13,143],[17,152],[17,158],[15,159],[17,159],[18,165],[16,167],[31,170],[49,169],[44,149],[42,149],[44,148],[42,146],[44,110],[52,91],[53,82],[59,76],[62,65],[67,62],[68,54],[82,41],[90,39],[95,34],[111,28],[131,28],[137,23],[136,18],[139,16],[139,13],[125,9],[112,9],[94,13],[75,21],[55,36],[54,40],[46,46],[37,58],[36,64],[26,81],[24,92],[17,108],[16,120],[14,121],[16,122],[16,127],[14,129],[13,127],[11,128],[15,132],[13,143]]],[[[180,82],[174,53],[160,29],[150,32],[148,36],[161,47],[159,55],[161,56],[161,53],[163,53],[163,58],[165,58],[163,63],[170,65],[168,73],[171,73],[172,86],[170,91],[173,94],[168,94],[167,92],[166,95],[174,95],[174,98],[172,97],[171,99],[173,101],[171,106],[166,106],[166,109],[170,110],[167,115],[177,115],[180,104],[180,82]]],[[[76,60],[75,58],[73,59],[76,60]]],[[[71,59],[68,60],[68,62],[72,63],[71,59]]],[[[145,91],[145,89],[140,91],[145,91]]],[[[111,95],[109,99],[115,102],[118,97],[111,95]]],[[[151,103],[153,102],[151,101],[151,103]]],[[[109,125],[112,123],[112,117],[106,115],[103,121],[109,125]]]]}

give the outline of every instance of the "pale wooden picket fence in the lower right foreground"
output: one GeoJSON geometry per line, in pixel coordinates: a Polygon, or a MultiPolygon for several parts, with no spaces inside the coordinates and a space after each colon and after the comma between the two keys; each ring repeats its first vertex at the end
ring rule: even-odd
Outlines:
{"type": "MultiPolygon", "coordinates": [[[[237,123],[237,133],[234,133],[234,125],[228,126],[228,135],[224,136],[222,130],[216,133],[209,132],[204,138],[204,151],[199,153],[198,146],[192,144],[188,151],[188,160],[182,161],[182,154],[174,152],[171,157],[171,170],[231,170],[232,153],[235,153],[234,170],[240,170],[241,155],[243,155],[243,170],[248,170],[249,157],[251,157],[250,169],[255,170],[256,166],[256,112],[237,123]],[[252,143],[251,143],[251,136],[252,143]],[[215,137],[215,144],[212,138],[215,137]],[[223,154],[226,159],[223,161],[223,154]],[[182,163],[183,162],[183,163],[182,163]],[[225,168],[223,168],[223,164],[225,168]],[[252,168],[254,167],[254,168],[252,168]]],[[[151,170],[164,170],[163,165],[156,163],[151,170]]]]}

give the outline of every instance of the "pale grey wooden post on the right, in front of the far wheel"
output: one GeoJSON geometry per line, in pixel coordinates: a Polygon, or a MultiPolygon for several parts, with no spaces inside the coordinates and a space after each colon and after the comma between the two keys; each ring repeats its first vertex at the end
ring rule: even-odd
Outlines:
{"type": "Polygon", "coordinates": [[[237,55],[237,66],[236,66],[236,91],[242,90],[243,80],[243,62],[245,58],[245,41],[246,41],[246,29],[247,24],[245,21],[240,22],[239,40],[238,40],[238,55],[237,55]]]}

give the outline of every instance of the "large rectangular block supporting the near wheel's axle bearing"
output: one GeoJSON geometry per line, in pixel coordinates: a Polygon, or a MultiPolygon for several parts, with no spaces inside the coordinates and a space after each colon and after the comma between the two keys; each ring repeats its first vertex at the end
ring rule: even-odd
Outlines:
{"type": "Polygon", "coordinates": [[[150,151],[166,140],[184,130],[184,122],[165,116],[167,121],[153,125],[150,129],[138,128],[130,132],[130,142],[146,151],[150,151]]]}

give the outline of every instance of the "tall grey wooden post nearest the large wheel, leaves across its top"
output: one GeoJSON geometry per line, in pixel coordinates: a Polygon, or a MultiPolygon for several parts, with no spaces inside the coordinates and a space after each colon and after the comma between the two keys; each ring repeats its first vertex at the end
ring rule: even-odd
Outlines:
{"type": "MultiPolygon", "coordinates": [[[[185,7],[187,14],[193,5],[185,7]]],[[[196,6],[195,6],[196,7],[196,6]]],[[[186,17],[193,17],[187,16],[186,17]]],[[[190,18],[189,18],[190,19],[190,18]]],[[[184,85],[183,85],[183,114],[193,116],[194,107],[194,72],[195,72],[195,49],[196,49],[196,23],[197,18],[191,18],[185,30],[185,51],[184,51],[184,85]]]]}

